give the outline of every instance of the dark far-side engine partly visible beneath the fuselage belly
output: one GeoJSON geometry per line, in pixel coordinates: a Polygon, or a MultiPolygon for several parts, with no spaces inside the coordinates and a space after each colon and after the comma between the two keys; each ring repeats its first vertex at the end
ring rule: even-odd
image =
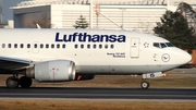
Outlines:
{"type": "Polygon", "coordinates": [[[95,78],[95,74],[77,74],[75,81],[88,81],[95,78]]]}

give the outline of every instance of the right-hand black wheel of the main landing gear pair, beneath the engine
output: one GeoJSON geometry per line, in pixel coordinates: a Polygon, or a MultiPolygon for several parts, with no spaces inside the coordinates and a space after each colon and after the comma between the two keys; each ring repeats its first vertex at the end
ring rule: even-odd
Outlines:
{"type": "Polygon", "coordinates": [[[32,78],[28,78],[26,76],[22,76],[20,78],[20,85],[23,88],[28,88],[32,85],[32,78]]]}

